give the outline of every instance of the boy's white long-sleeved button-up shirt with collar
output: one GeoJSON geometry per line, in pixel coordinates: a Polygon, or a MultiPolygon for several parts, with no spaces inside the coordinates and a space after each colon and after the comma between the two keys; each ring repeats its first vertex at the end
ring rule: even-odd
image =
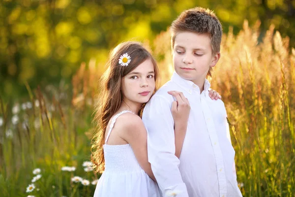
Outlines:
{"type": "Polygon", "coordinates": [[[148,101],[143,122],[148,131],[148,161],[163,194],[177,197],[241,197],[236,182],[235,151],[222,100],[208,96],[206,80],[197,85],[174,72],[148,101]],[[183,92],[191,110],[180,158],[175,156],[174,120],[167,92],[183,92]]]}

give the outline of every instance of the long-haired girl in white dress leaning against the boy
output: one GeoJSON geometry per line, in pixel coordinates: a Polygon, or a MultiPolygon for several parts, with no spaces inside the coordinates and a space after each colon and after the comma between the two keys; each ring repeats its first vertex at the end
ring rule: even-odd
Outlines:
{"type": "MultiPolygon", "coordinates": [[[[124,42],[112,51],[94,117],[99,129],[92,137],[91,157],[96,171],[103,172],[94,197],[160,197],[148,163],[147,131],[140,118],[158,79],[157,64],[142,44],[124,42]]],[[[178,98],[171,110],[179,157],[190,106],[182,93],[169,94],[178,98]]],[[[212,97],[216,96],[214,92],[212,97]]]]}

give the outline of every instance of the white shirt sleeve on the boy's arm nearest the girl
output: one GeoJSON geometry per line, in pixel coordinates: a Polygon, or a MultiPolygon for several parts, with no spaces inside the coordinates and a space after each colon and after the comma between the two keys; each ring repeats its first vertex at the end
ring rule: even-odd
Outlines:
{"type": "Polygon", "coordinates": [[[188,197],[175,156],[174,120],[172,101],[154,95],[143,112],[143,122],[148,131],[148,162],[163,196],[176,192],[177,197],[188,197]]]}

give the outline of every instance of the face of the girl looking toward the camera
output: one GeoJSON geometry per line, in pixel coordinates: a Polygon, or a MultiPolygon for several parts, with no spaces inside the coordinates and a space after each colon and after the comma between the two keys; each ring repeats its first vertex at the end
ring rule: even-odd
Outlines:
{"type": "Polygon", "coordinates": [[[137,66],[122,79],[124,100],[146,103],[155,90],[155,72],[150,59],[137,66]]]}

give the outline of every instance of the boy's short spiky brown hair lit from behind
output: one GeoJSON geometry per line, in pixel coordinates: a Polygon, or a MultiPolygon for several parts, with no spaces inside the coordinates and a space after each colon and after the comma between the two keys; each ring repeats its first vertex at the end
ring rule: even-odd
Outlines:
{"type": "MultiPolygon", "coordinates": [[[[211,38],[212,55],[220,52],[222,26],[214,12],[203,7],[185,10],[172,22],[171,47],[174,48],[175,37],[180,32],[207,33],[211,38]]],[[[212,68],[208,75],[211,76],[212,68]]]]}

